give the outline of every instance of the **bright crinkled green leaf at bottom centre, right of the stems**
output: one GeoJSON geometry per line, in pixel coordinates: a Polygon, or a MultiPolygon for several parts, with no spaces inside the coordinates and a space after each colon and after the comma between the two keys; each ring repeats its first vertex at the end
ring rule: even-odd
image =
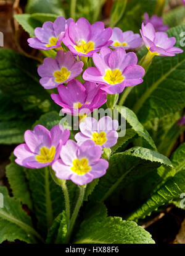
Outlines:
{"type": "Polygon", "coordinates": [[[133,221],[107,217],[105,207],[91,209],[93,217],[84,219],[74,240],[76,244],[154,244],[149,232],[133,221]]]}

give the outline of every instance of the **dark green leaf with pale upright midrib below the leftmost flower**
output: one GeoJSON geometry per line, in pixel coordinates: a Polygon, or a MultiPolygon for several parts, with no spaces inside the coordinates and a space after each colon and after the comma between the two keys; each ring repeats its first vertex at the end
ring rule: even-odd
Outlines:
{"type": "Polygon", "coordinates": [[[38,219],[38,229],[46,236],[54,218],[64,210],[62,189],[52,180],[49,167],[28,169],[28,181],[33,198],[33,210],[38,219]]]}

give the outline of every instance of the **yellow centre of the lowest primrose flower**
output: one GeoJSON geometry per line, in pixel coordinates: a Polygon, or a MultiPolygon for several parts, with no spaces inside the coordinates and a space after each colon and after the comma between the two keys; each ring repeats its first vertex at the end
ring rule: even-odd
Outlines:
{"type": "Polygon", "coordinates": [[[91,170],[91,166],[89,166],[88,159],[82,158],[79,160],[76,158],[73,160],[73,166],[71,167],[71,170],[78,175],[84,175],[86,172],[91,170]]]}

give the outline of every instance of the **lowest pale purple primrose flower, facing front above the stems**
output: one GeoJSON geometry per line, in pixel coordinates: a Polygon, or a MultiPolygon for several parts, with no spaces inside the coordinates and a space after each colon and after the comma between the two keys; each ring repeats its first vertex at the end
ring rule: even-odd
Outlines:
{"type": "Polygon", "coordinates": [[[84,185],[106,173],[109,163],[101,155],[101,147],[93,141],[84,141],[79,146],[68,140],[60,152],[61,159],[52,164],[52,169],[57,178],[84,185]]]}

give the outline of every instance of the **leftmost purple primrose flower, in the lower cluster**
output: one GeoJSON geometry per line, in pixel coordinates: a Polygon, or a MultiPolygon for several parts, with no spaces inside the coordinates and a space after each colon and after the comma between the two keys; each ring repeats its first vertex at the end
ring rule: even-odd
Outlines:
{"type": "Polygon", "coordinates": [[[15,162],[31,169],[49,166],[59,158],[60,150],[70,136],[69,130],[56,125],[47,130],[36,125],[34,130],[25,131],[25,143],[14,149],[15,162]]]}

